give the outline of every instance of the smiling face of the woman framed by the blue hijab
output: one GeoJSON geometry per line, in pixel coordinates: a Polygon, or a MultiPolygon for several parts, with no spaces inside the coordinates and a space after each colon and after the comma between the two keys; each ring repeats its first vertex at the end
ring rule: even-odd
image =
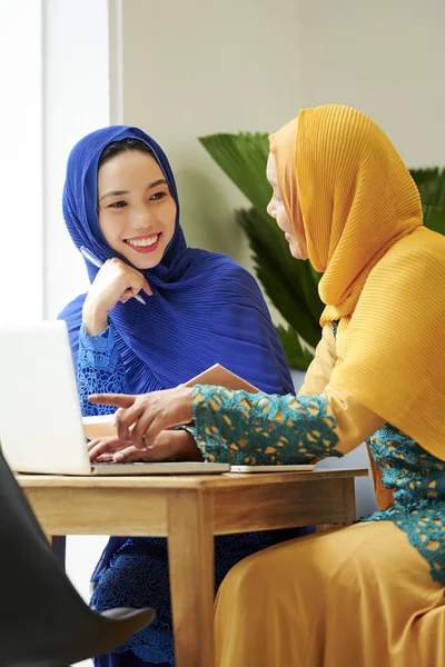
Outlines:
{"type": "Polygon", "coordinates": [[[99,226],[110,246],[137,269],[156,267],[175,233],[176,202],[150,155],[126,150],[98,173],[99,226]]]}

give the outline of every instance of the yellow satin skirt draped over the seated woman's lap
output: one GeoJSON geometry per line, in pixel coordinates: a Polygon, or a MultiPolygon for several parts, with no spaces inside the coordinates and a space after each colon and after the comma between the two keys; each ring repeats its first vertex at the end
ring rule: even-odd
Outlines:
{"type": "Polygon", "coordinates": [[[219,589],[218,667],[443,667],[444,586],[389,521],[271,547],[219,589]]]}

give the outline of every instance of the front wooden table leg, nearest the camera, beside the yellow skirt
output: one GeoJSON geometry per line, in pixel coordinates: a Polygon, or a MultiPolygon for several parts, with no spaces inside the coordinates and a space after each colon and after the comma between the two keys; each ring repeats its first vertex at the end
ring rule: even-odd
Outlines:
{"type": "Polygon", "coordinates": [[[212,667],[215,552],[212,497],[201,489],[168,497],[168,558],[177,667],[212,667]]]}

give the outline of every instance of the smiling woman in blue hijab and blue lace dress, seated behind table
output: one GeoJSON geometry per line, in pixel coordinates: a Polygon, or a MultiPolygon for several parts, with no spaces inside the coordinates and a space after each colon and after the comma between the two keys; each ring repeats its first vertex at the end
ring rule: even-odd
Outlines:
{"type": "MultiPolygon", "coordinates": [[[[77,143],[68,160],[63,216],[91,281],[60,315],[70,332],[83,415],[112,411],[90,404],[89,394],[167,389],[217,362],[267,394],[294,391],[255,279],[225,255],[187,247],[170,166],[145,132],[116,126],[77,143]]],[[[200,452],[190,431],[165,431],[142,455],[130,446],[113,452],[110,439],[108,454],[97,460],[172,460],[185,439],[192,460],[200,452]]],[[[216,586],[245,556],[305,532],[218,537],[216,586]]],[[[92,581],[98,610],[158,611],[154,625],[97,658],[97,667],[175,665],[166,540],[111,538],[92,581]]]]}

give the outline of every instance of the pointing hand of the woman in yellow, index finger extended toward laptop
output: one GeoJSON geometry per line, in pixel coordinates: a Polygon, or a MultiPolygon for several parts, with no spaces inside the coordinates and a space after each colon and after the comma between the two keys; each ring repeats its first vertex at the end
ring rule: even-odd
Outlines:
{"type": "Polygon", "coordinates": [[[192,388],[180,385],[175,389],[151,394],[93,394],[92,404],[115,406],[116,428],[120,440],[131,440],[139,449],[155,445],[160,431],[189,424],[194,418],[192,388]]]}

